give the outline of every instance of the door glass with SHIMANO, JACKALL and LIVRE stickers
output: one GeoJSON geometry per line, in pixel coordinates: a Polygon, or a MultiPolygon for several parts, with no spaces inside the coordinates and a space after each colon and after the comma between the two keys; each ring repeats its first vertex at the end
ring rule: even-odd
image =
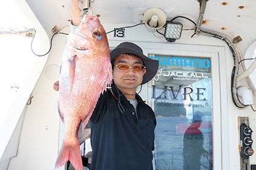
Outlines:
{"type": "Polygon", "coordinates": [[[157,117],[155,169],[212,169],[210,58],[149,54],[159,61],[148,83],[157,117]]]}

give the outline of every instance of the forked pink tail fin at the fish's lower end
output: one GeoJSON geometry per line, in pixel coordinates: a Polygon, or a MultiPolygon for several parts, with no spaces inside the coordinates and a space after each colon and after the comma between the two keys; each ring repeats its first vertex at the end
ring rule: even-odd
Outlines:
{"type": "Polygon", "coordinates": [[[71,144],[66,144],[64,141],[62,150],[60,151],[60,154],[55,163],[55,169],[60,168],[60,166],[64,165],[68,160],[70,161],[74,169],[83,169],[78,140],[75,143],[71,144]]]}

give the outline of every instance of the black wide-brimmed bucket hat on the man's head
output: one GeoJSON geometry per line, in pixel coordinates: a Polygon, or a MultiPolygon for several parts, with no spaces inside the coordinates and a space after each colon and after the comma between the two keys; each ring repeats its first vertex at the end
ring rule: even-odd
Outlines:
{"type": "Polygon", "coordinates": [[[112,66],[115,58],[123,53],[133,54],[135,56],[138,56],[143,61],[144,66],[146,66],[147,71],[143,76],[143,80],[141,84],[148,83],[148,81],[154,78],[158,70],[158,60],[148,58],[148,56],[143,54],[143,50],[139,46],[137,46],[137,44],[134,44],[132,42],[122,42],[121,44],[116,46],[115,49],[112,50],[112,52],[110,53],[110,57],[111,57],[110,60],[111,60],[112,66]]]}

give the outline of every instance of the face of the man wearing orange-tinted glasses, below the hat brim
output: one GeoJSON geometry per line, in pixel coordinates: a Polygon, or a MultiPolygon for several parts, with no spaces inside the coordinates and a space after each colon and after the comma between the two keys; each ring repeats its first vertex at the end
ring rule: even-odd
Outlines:
{"type": "Polygon", "coordinates": [[[140,86],[143,75],[146,73],[146,69],[141,72],[135,72],[135,70],[129,68],[128,70],[120,70],[116,67],[116,64],[127,64],[128,66],[135,66],[143,64],[143,61],[134,55],[122,54],[115,58],[113,67],[113,80],[116,86],[121,89],[137,89],[140,86]]]}

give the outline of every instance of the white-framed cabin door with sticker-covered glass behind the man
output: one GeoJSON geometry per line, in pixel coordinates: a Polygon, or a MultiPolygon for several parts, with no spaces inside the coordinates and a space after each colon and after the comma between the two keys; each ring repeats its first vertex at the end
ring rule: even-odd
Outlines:
{"type": "Polygon", "coordinates": [[[222,169],[218,48],[135,43],[159,61],[140,93],[157,117],[154,169],[222,169]]]}

